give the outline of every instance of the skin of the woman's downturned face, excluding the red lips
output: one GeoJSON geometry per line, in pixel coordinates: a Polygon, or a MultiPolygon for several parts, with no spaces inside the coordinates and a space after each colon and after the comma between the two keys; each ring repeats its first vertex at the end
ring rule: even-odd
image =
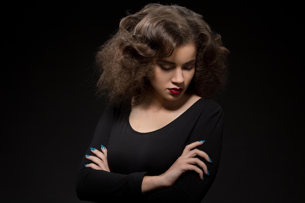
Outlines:
{"type": "Polygon", "coordinates": [[[172,55],[156,60],[154,75],[150,79],[151,97],[154,105],[161,107],[181,103],[191,79],[195,74],[196,48],[194,44],[177,47],[172,55]],[[169,92],[171,88],[182,88],[180,94],[169,92]]]}

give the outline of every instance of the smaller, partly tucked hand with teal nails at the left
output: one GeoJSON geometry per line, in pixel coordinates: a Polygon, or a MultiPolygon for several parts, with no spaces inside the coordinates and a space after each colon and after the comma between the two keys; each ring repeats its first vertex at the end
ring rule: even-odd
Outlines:
{"type": "Polygon", "coordinates": [[[85,167],[90,167],[95,170],[105,170],[110,172],[109,166],[108,166],[108,159],[107,159],[107,148],[105,148],[103,145],[101,145],[101,151],[97,150],[96,148],[90,148],[92,153],[94,153],[96,156],[86,156],[86,159],[93,161],[94,163],[90,163],[86,165],[85,167]]]}

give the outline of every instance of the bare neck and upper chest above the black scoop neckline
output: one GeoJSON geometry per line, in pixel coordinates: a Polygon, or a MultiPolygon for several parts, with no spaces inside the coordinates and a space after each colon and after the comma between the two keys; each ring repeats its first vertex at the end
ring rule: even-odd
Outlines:
{"type": "Polygon", "coordinates": [[[197,95],[191,95],[179,108],[174,110],[164,108],[156,111],[149,107],[143,108],[141,105],[133,107],[129,116],[130,126],[137,132],[152,132],[161,129],[187,111],[200,98],[197,95]]]}

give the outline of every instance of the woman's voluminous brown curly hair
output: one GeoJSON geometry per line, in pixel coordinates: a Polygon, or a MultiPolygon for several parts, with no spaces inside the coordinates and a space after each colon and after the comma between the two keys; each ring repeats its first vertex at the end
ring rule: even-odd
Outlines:
{"type": "Polygon", "coordinates": [[[172,55],[175,47],[193,42],[197,48],[195,74],[188,87],[211,98],[227,83],[229,50],[210,25],[186,7],[150,3],[122,18],[118,30],[95,55],[99,79],[96,94],[116,105],[137,105],[147,90],[155,58],[172,55]]]}

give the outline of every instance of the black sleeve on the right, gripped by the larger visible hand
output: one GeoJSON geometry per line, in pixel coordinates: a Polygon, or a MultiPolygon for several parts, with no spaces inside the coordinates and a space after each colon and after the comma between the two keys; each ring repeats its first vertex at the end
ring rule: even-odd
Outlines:
{"type": "Polygon", "coordinates": [[[208,166],[210,175],[204,174],[204,180],[194,171],[185,172],[171,187],[154,191],[146,196],[148,203],[200,203],[212,185],[219,166],[222,135],[223,111],[214,102],[203,108],[191,133],[190,144],[199,140],[206,142],[198,148],[205,151],[212,163],[200,158],[208,166]]]}

